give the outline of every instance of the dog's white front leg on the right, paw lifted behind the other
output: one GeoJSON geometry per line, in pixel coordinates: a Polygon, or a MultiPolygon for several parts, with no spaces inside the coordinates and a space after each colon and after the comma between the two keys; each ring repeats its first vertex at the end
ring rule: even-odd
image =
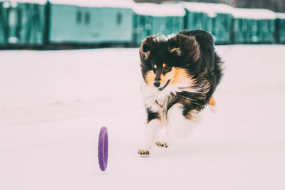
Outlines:
{"type": "Polygon", "coordinates": [[[159,147],[169,147],[175,139],[188,137],[196,125],[202,122],[202,115],[197,114],[195,111],[191,111],[190,114],[190,117],[183,115],[182,105],[173,105],[167,112],[165,137],[156,142],[156,145],[159,147]]]}

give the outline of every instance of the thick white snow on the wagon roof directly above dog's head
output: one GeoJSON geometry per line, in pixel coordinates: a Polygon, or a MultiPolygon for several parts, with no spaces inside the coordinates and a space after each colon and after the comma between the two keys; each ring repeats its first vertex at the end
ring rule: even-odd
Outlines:
{"type": "Polygon", "coordinates": [[[140,15],[150,16],[185,16],[186,12],[176,4],[140,3],[133,5],[133,11],[140,15]]]}

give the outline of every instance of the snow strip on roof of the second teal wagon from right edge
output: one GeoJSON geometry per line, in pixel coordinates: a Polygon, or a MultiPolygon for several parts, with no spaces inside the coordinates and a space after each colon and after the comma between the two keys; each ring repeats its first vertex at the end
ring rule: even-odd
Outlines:
{"type": "Polygon", "coordinates": [[[242,19],[276,19],[276,13],[267,9],[241,9],[235,8],[232,16],[242,19]]]}

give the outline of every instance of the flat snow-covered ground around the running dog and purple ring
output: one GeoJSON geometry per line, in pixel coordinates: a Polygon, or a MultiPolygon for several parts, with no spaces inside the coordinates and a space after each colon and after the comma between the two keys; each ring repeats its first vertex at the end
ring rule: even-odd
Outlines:
{"type": "Polygon", "coordinates": [[[285,46],[217,51],[217,114],[149,158],[138,49],[0,51],[0,189],[285,189],[285,46]]]}

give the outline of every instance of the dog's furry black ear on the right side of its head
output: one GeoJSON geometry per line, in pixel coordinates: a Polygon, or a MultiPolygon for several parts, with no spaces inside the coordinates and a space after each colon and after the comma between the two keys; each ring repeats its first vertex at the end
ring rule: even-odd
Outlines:
{"type": "Polygon", "coordinates": [[[199,43],[195,36],[185,36],[178,33],[168,45],[170,53],[175,53],[177,56],[187,56],[197,61],[200,57],[199,43]]]}

